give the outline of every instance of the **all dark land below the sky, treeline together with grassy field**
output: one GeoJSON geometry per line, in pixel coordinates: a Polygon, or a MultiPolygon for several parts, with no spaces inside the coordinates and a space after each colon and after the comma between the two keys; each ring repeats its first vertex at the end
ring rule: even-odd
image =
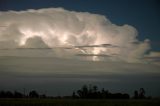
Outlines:
{"type": "Polygon", "coordinates": [[[0,91],[0,106],[160,106],[160,99],[148,99],[144,88],[127,93],[111,93],[97,86],[82,86],[70,96],[50,97],[32,90],[0,91]]]}

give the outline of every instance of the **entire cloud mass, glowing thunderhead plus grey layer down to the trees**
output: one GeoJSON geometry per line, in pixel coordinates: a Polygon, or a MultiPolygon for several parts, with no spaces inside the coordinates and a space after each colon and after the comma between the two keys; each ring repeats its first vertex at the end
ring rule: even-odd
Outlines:
{"type": "Polygon", "coordinates": [[[62,8],[0,12],[1,89],[65,94],[95,83],[125,92],[144,87],[159,96],[160,53],[149,51],[150,41],[137,36],[130,25],[118,26],[87,12],[62,8]]]}

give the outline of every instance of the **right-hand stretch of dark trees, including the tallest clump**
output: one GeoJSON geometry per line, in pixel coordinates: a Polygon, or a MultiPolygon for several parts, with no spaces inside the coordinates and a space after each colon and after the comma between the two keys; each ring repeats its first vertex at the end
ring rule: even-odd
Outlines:
{"type": "MultiPolygon", "coordinates": [[[[130,95],[127,93],[111,93],[104,88],[98,90],[97,86],[92,85],[83,85],[81,89],[73,92],[73,98],[81,98],[81,99],[130,99],[130,95]]],[[[133,99],[149,99],[151,97],[145,96],[144,88],[140,88],[139,91],[135,90],[133,99]]]]}

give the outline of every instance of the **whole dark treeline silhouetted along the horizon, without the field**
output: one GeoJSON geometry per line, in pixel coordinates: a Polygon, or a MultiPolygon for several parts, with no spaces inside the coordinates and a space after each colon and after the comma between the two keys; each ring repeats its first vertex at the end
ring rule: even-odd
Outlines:
{"type": "MultiPolygon", "coordinates": [[[[49,97],[45,94],[40,95],[37,91],[32,90],[28,94],[18,91],[0,91],[0,98],[73,98],[73,99],[130,99],[127,93],[111,93],[104,88],[98,90],[97,86],[83,85],[81,89],[74,91],[71,96],[64,97],[49,97]]],[[[134,91],[133,99],[146,99],[151,97],[145,96],[145,90],[140,88],[139,91],[134,91]]]]}

